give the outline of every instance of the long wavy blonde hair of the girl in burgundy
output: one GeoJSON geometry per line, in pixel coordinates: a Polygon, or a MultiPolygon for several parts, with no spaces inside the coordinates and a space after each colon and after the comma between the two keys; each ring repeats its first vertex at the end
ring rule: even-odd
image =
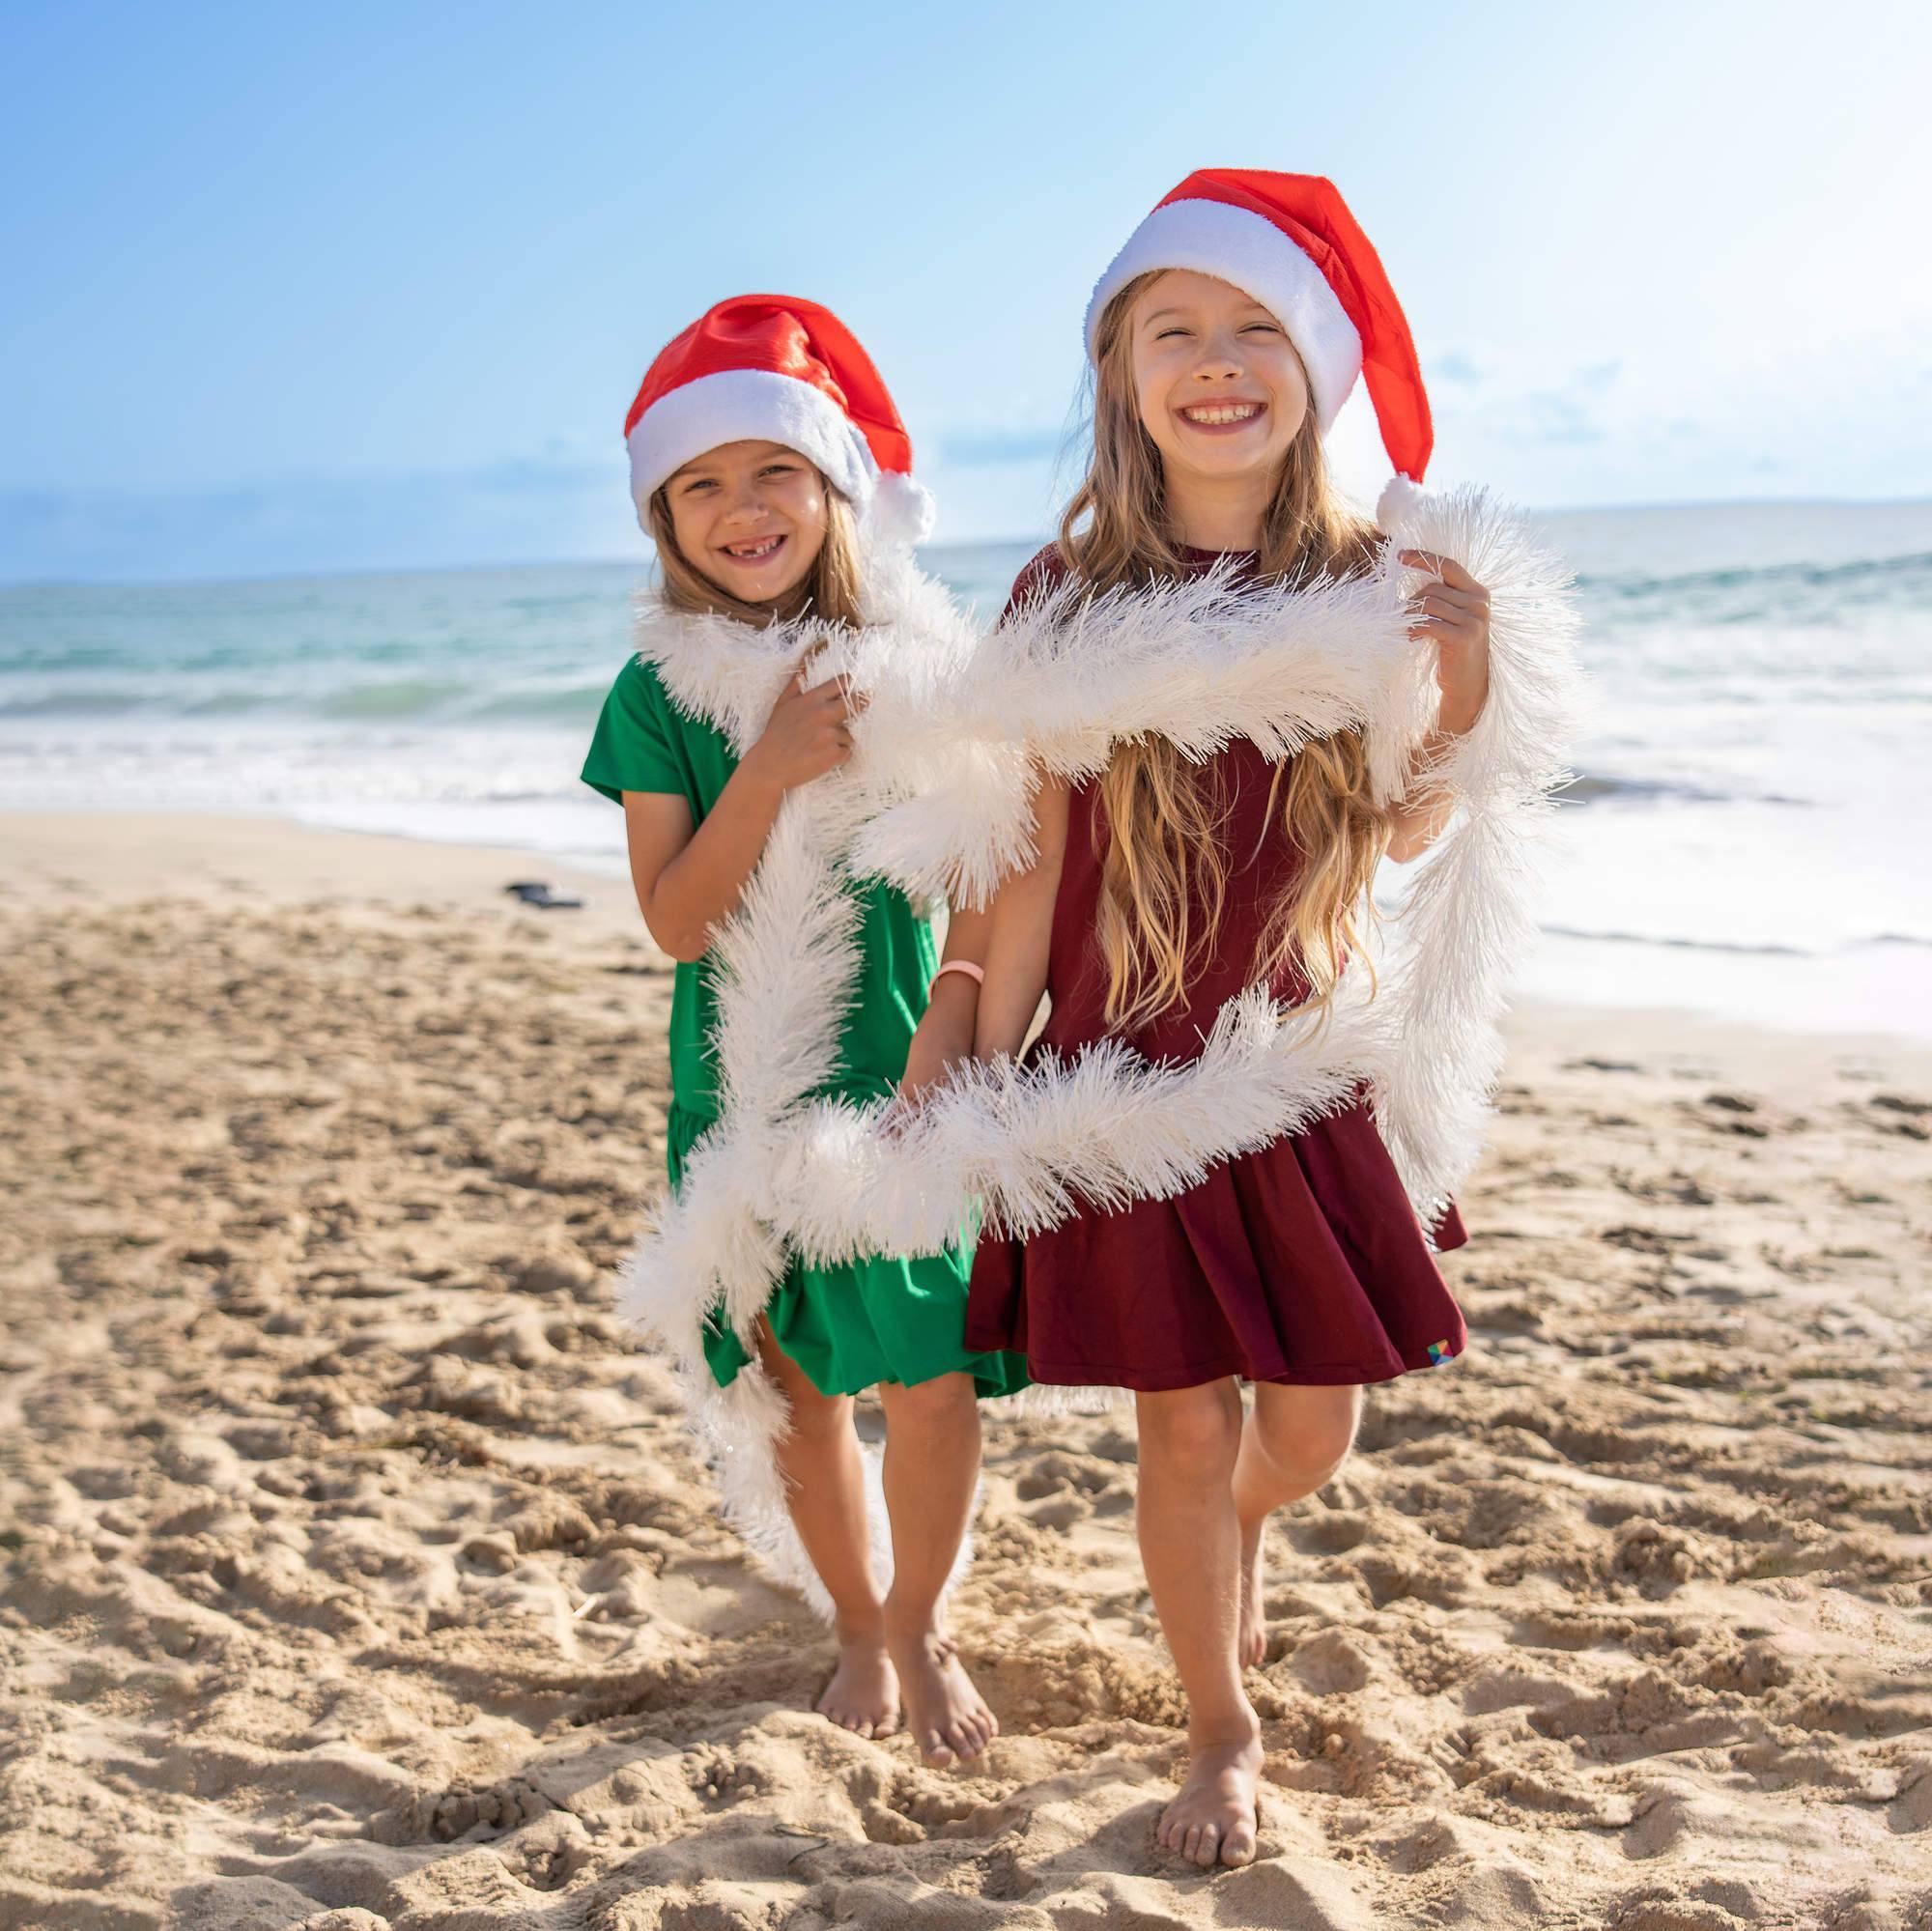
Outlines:
{"type": "MultiPolygon", "coordinates": [[[[1128,315],[1161,270],[1136,276],[1101,313],[1094,377],[1094,456],[1061,518],[1059,550],[1094,591],[1182,575],[1167,516],[1161,452],[1140,421],[1128,315]]],[[[1337,494],[1310,404],[1262,519],[1262,579],[1350,575],[1368,568],[1376,531],[1337,494]]],[[[1316,738],[1275,767],[1267,815],[1302,857],[1294,890],[1269,911],[1250,979],[1294,962],[1310,1002],[1325,1006],[1372,915],[1368,886],[1389,844],[1389,817],[1368,786],[1360,732],[1316,738]]],[[[1099,948],[1107,1023],[1132,1031],[1186,996],[1190,966],[1211,956],[1227,892],[1227,803],[1167,738],[1115,749],[1101,776],[1109,840],[1101,867],[1099,948]],[[1200,908],[1196,921],[1194,908],[1200,908]]]]}

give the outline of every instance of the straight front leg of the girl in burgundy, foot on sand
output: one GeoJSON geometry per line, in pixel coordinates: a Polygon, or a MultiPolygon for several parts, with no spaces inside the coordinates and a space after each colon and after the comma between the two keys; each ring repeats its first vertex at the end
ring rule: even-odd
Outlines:
{"type": "Polygon", "coordinates": [[[1254,1858],[1262,1726],[1235,1661],[1240,1524],[1233,1381],[1138,1396],[1140,1558],[1161,1634],[1188,1693],[1188,1775],[1159,1838],[1200,1865],[1254,1858]]]}

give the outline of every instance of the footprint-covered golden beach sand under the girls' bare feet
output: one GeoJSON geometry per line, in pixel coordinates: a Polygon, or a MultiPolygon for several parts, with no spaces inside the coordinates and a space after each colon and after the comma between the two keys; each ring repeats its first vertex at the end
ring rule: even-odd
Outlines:
{"type": "Polygon", "coordinates": [[[1262,1856],[1206,1877],[1126,1413],[989,1415],[981,1765],[811,1715],[612,1317],[670,985],[622,881],[0,844],[0,1925],[1932,1921],[1922,1054],[1520,1018],[1470,1352],[1275,1527],[1262,1856]]]}

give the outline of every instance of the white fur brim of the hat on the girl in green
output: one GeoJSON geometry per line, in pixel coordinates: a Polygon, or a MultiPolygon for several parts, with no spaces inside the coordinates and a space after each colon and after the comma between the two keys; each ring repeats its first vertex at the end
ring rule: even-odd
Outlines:
{"type": "Polygon", "coordinates": [[[684,382],[659,396],[624,440],[630,494],[645,529],[651,492],[721,442],[782,442],[798,450],[860,516],[879,481],[879,465],[852,417],[823,390],[771,369],[723,369],[684,382]]]}

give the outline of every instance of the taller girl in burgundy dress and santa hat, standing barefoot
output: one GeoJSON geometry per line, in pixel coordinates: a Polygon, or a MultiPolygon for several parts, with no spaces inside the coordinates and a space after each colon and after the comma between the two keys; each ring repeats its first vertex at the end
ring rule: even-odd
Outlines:
{"type": "MultiPolygon", "coordinates": [[[[1101,276],[1088,350],[1092,469],[1009,616],[1068,585],[1159,591],[1215,560],[1256,587],[1378,568],[1383,541],[1331,492],[1321,434],[1366,361],[1391,456],[1420,477],[1428,404],[1327,182],[1192,176],[1101,276]]],[[[1443,556],[1401,560],[1422,583],[1408,635],[1435,655],[1426,755],[1453,757],[1490,693],[1490,599],[1443,556]]],[[[1020,1050],[1041,993],[1041,1045],[1063,1060],[1122,1041],[1167,1064],[1200,1058],[1256,983],[1285,1004],[1335,998],[1378,863],[1432,844],[1453,799],[1418,784],[1426,801],[1378,803],[1360,730],[1279,751],[1235,738],[1202,761],[1144,732],[1088,782],[1043,770],[1039,859],[993,910],[981,1058],[1020,1050]]],[[[968,1348],[1024,1352],[1039,1383],[1134,1390],[1140,1547],[1190,1707],[1159,1838],[1196,1863],[1256,1848],[1262,1742],[1240,1676],[1265,1649],[1267,1516],[1341,1466],[1364,1383],[1461,1352],[1432,1245],[1463,1238],[1453,1207],[1422,1224],[1366,1097],[1345,1097],[1192,1188],[980,1244],[968,1348]]]]}

